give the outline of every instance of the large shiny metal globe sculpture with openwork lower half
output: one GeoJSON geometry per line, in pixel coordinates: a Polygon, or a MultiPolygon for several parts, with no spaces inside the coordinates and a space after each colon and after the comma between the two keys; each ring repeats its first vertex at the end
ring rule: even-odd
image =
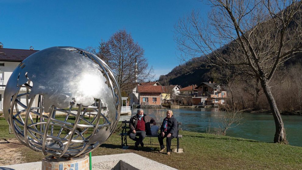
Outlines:
{"type": "Polygon", "coordinates": [[[118,124],[120,103],[117,80],[104,61],[83,49],[51,47],[13,71],[3,108],[21,143],[44,155],[72,158],[108,139],[118,124]]]}

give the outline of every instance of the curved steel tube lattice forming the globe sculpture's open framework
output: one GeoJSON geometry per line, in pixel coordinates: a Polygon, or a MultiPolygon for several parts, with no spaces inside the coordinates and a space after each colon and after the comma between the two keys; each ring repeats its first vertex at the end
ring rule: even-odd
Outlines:
{"type": "Polygon", "coordinates": [[[16,138],[33,151],[41,151],[44,155],[52,154],[57,158],[73,158],[97,149],[97,147],[106,141],[114,132],[121,112],[121,91],[112,70],[96,55],[79,48],[60,47],[60,49],[80,53],[100,66],[100,71],[106,78],[106,83],[112,91],[114,106],[116,108],[115,120],[108,119],[105,114],[107,111],[104,112],[104,114],[101,112],[107,108],[102,106],[100,100],[98,101],[98,106],[83,106],[82,104],[77,104],[77,114],[71,112],[72,105],[74,104],[72,102],[70,103],[68,111],[63,110],[62,108],[56,108],[52,105],[51,111],[47,116],[47,114],[44,113],[44,107],[42,107],[44,100],[43,95],[38,95],[38,107],[32,107],[36,96],[32,98],[28,97],[32,89],[29,80],[22,85],[22,87],[26,87],[26,93],[19,94],[21,90],[20,87],[19,91],[11,98],[8,122],[12,129],[14,129],[12,131],[16,138]],[[18,99],[24,96],[26,97],[26,105],[18,99]],[[19,111],[18,105],[24,109],[19,111]],[[16,109],[15,115],[13,114],[14,108],[16,109]],[[82,108],[84,110],[81,114],[82,108]],[[84,118],[88,109],[97,112],[97,115],[91,121],[84,118]],[[21,117],[21,113],[24,112],[25,120],[21,117]],[[61,121],[56,119],[56,112],[65,113],[65,120],[61,121]],[[36,122],[34,122],[31,114],[36,115],[36,122]],[[67,122],[69,116],[75,117],[74,123],[67,122]],[[40,118],[40,122],[37,122],[38,118],[40,118]],[[101,118],[104,119],[103,124],[100,124],[101,118]],[[57,133],[55,131],[56,127],[60,128],[57,133]],[[82,131],[80,132],[77,128],[82,128],[82,131]],[[104,136],[97,133],[102,128],[110,129],[110,135],[106,139],[104,139],[104,136]],[[65,136],[62,134],[63,130],[68,131],[65,136]],[[89,136],[84,137],[84,133],[89,130],[93,130],[93,132],[89,136]],[[91,142],[89,139],[93,135],[99,140],[91,142]]]}

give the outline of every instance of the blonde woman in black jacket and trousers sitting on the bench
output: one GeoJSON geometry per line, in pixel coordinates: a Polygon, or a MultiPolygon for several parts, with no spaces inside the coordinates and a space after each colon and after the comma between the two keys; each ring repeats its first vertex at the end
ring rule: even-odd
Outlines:
{"type": "Polygon", "coordinates": [[[167,155],[171,152],[171,140],[177,137],[177,120],[173,116],[172,110],[166,112],[167,117],[163,119],[163,124],[160,127],[160,134],[158,135],[158,141],[160,143],[160,151],[165,150],[163,145],[163,138],[167,137],[167,155]]]}

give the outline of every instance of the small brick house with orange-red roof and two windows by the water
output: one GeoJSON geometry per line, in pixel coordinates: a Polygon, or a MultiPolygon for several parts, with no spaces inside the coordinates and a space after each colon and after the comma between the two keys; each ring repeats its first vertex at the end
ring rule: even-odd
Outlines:
{"type": "Polygon", "coordinates": [[[139,104],[142,106],[158,105],[160,106],[161,94],[164,93],[163,86],[138,85],[137,93],[139,104]]]}

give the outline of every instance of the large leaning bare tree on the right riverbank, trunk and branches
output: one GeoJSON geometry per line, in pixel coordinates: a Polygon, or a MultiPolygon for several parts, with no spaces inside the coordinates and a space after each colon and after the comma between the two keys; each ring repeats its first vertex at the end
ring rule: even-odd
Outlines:
{"type": "Polygon", "coordinates": [[[241,75],[260,81],[275,120],[275,143],[287,143],[283,121],[269,82],[276,69],[302,47],[301,1],[209,0],[206,21],[198,12],[176,24],[175,41],[184,61],[205,66],[234,66],[241,75]]]}

